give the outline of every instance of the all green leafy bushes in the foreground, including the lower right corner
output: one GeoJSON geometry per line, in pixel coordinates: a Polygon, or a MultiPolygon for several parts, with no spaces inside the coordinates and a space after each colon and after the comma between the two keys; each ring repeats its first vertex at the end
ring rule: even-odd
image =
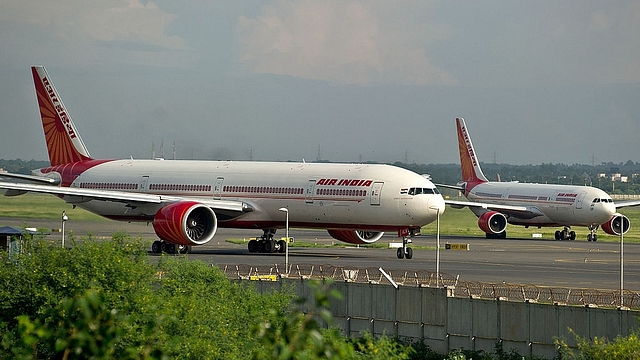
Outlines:
{"type": "MultiPolygon", "coordinates": [[[[331,327],[329,301],[341,295],[312,283],[314,303],[292,289],[257,293],[251,282],[184,256],[148,259],[147,244],[125,233],[112,241],[69,240],[70,249],[26,240],[12,259],[0,253],[0,358],[12,359],[499,359],[492,353],[433,352],[331,327]],[[305,309],[305,310],[302,310],[305,309]],[[328,326],[328,328],[327,328],[328,326]]],[[[561,359],[637,358],[638,335],[613,342],[578,338],[561,359]]]]}

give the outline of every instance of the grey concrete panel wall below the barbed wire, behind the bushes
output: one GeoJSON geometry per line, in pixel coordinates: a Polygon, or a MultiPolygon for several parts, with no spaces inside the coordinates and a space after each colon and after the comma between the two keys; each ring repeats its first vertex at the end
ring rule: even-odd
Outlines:
{"type": "MultiPolygon", "coordinates": [[[[308,280],[256,281],[260,292],[292,287],[312,306],[308,280]]],[[[330,310],[345,335],[367,331],[408,339],[424,339],[434,351],[452,349],[493,352],[497,342],[505,351],[517,349],[529,357],[553,358],[554,340],[575,346],[569,328],[584,338],[627,336],[639,327],[640,312],[565,305],[472,299],[448,296],[446,288],[334,282],[344,295],[330,310]]]]}

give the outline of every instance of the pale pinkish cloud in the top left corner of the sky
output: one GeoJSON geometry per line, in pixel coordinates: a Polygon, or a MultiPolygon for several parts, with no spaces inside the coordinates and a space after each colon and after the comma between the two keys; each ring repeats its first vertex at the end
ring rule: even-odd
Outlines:
{"type": "Polygon", "coordinates": [[[13,51],[28,54],[34,51],[34,44],[41,43],[40,52],[52,54],[50,57],[57,54],[52,62],[69,63],[113,59],[175,63],[176,57],[184,57],[176,53],[188,49],[184,39],[167,34],[173,20],[174,15],[156,3],[140,0],[10,0],[0,12],[0,22],[21,33],[21,43],[14,43],[13,51]],[[116,48],[120,52],[113,53],[116,48]],[[155,55],[148,55],[159,51],[171,56],[154,59],[155,55]]]}

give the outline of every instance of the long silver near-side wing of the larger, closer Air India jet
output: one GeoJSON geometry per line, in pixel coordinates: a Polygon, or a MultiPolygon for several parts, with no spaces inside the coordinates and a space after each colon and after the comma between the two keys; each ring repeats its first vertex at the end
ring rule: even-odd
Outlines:
{"type": "Polygon", "coordinates": [[[36,184],[20,184],[11,182],[0,182],[0,189],[5,189],[5,195],[14,196],[27,192],[36,192],[43,194],[52,194],[62,196],[68,203],[83,203],[90,200],[113,201],[138,206],[142,204],[169,204],[185,200],[197,201],[203,205],[209,206],[213,210],[226,210],[231,212],[245,213],[253,211],[253,207],[242,201],[234,200],[213,200],[213,199],[194,199],[181,196],[164,196],[144,193],[132,193],[126,191],[112,190],[95,190],[58,187],[50,185],[36,184]]]}

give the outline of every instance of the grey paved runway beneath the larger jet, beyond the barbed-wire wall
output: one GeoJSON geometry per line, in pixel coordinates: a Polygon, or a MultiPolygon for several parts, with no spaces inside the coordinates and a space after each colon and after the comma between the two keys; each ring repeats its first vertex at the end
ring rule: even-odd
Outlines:
{"type": "MultiPolygon", "coordinates": [[[[44,229],[60,228],[60,222],[0,218],[0,226],[30,226],[44,229]]],[[[113,221],[68,222],[67,236],[88,233],[108,239],[116,231],[124,230],[134,237],[155,239],[153,227],[146,224],[127,224],[113,221]]],[[[261,230],[218,229],[214,239],[206,245],[193,247],[190,259],[224,265],[284,267],[284,254],[249,253],[246,244],[227,240],[248,241],[261,235],[261,230]]],[[[284,231],[278,232],[284,236],[284,231]]],[[[343,244],[329,237],[326,231],[291,229],[295,241],[289,250],[290,264],[349,266],[389,270],[436,271],[436,236],[425,234],[413,240],[414,256],[411,260],[397,259],[395,248],[330,247],[343,244]],[[295,242],[315,243],[319,247],[296,247],[295,242]],[[324,247],[323,247],[324,246],[324,247]]],[[[52,232],[51,239],[61,235],[52,232]]],[[[385,236],[378,243],[397,242],[395,236],[385,236]]],[[[620,244],[587,241],[555,241],[546,239],[487,240],[484,237],[441,236],[440,272],[460,281],[485,283],[533,284],[548,287],[582,288],[598,290],[620,289],[620,244]],[[468,244],[469,250],[445,250],[445,244],[468,244]]],[[[150,256],[157,257],[157,254],[150,256]]],[[[625,243],[624,288],[640,290],[640,244],[625,243]]]]}

